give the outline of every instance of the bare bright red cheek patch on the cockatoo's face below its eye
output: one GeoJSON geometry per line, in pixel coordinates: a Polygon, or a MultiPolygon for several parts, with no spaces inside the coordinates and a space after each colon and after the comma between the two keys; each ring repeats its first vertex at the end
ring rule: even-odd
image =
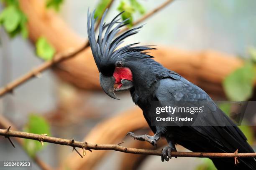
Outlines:
{"type": "Polygon", "coordinates": [[[133,81],[133,74],[128,67],[115,67],[113,76],[116,84],[120,83],[122,79],[133,81]]]}

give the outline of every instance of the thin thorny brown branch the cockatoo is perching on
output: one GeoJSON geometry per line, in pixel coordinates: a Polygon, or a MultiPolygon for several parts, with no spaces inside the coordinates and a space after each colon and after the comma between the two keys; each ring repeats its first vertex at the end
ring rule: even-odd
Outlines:
{"type": "MultiPolygon", "coordinates": [[[[145,150],[136,148],[127,148],[120,145],[111,144],[92,144],[87,142],[79,142],[74,139],[61,139],[54,138],[45,135],[38,135],[33,133],[19,132],[8,129],[0,129],[0,135],[5,138],[16,137],[16,138],[26,138],[31,140],[38,140],[47,143],[54,143],[59,145],[67,145],[73,148],[82,148],[84,150],[115,150],[123,153],[133,153],[133,154],[144,154],[144,155],[157,155],[161,156],[161,150],[145,150]]],[[[85,155],[85,154],[84,154],[85,155]]],[[[195,152],[172,152],[174,157],[196,157],[196,158],[246,158],[246,157],[256,157],[256,153],[238,153],[236,150],[234,153],[195,153],[195,152]]]]}

